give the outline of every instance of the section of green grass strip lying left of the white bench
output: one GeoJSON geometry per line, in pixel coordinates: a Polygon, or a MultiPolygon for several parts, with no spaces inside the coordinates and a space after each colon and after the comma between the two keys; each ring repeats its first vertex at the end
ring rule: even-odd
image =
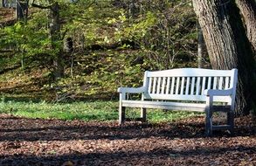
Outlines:
{"type": "Polygon", "coordinates": [[[0,102],[0,113],[28,118],[109,121],[117,117],[116,103],[111,101],[46,103],[46,102],[0,102]]]}

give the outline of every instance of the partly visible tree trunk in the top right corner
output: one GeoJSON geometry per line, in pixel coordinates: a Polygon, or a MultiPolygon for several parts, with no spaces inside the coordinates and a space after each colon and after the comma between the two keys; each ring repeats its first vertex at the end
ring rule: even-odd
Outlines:
{"type": "Polygon", "coordinates": [[[256,52],[256,2],[254,0],[237,0],[236,2],[246,22],[247,38],[256,52]]]}

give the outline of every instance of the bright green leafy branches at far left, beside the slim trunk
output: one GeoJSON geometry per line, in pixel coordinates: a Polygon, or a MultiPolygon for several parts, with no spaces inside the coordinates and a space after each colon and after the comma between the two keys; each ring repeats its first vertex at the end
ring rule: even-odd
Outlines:
{"type": "MultiPolygon", "coordinates": [[[[11,46],[13,52],[17,52],[15,57],[19,56],[23,66],[31,64],[29,59],[38,59],[39,64],[44,64],[44,66],[45,64],[51,65],[50,59],[53,59],[56,53],[62,49],[60,44],[54,50],[50,48],[52,41],[49,38],[44,10],[33,13],[26,24],[17,22],[13,26],[4,27],[2,31],[4,38],[1,43],[6,47],[11,46]],[[27,59],[25,64],[24,59],[27,59]]],[[[57,41],[57,43],[59,42],[57,41]]]]}

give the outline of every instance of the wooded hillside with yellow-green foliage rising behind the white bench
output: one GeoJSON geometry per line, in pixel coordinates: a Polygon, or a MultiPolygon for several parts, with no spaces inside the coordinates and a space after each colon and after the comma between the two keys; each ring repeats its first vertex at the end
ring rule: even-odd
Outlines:
{"type": "MultiPolygon", "coordinates": [[[[63,37],[55,50],[49,46],[49,10],[36,10],[27,24],[2,26],[2,98],[114,100],[118,86],[141,86],[145,70],[197,66],[197,22],[190,3],[166,3],[161,10],[159,3],[140,8],[135,3],[131,15],[125,2],[60,3],[63,37]],[[65,75],[57,80],[56,52],[65,75]]],[[[2,23],[13,21],[14,10],[1,12],[2,23]]]]}

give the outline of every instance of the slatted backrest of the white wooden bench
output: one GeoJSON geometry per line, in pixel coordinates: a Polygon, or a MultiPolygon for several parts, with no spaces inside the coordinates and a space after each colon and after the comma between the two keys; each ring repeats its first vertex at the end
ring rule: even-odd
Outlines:
{"type": "MultiPolygon", "coordinates": [[[[180,68],[144,74],[143,86],[147,92],[143,99],[205,101],[205,89],[228,89],[236,87],[238,70],[211,70],[180,68]]],[[[232,96],[214,97],[213,101],[233,102],[232,96]]]]}

